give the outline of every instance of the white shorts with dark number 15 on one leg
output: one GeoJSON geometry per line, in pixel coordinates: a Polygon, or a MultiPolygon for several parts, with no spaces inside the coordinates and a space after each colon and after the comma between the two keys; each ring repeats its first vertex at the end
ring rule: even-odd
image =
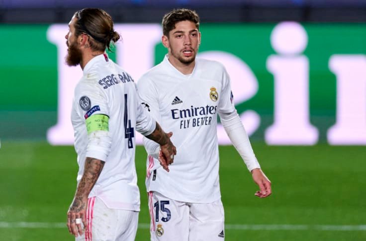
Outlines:
{"type": "Polygon", "coordinates": [[[149,192],[151,241],[223,241],[224,208],[213,203],[186,203],[149,192]]]}

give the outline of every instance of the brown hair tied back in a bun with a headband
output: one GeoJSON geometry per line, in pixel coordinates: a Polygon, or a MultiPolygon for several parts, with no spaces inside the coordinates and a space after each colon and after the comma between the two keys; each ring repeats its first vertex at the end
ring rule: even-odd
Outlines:
{"type": "Polygon", "coordinates": [[[112,17],[100,8],[84,8],[75,12],[76,36],[82,33],[91,37],[90,47],[94,51],[110,51],[110,43],[117,42],[121,36],[114,31],[112,17]]]}

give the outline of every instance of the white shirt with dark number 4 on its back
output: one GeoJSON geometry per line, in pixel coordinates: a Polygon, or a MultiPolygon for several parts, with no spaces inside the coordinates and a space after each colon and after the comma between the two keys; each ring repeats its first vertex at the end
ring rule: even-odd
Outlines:
{"type": "Polygon", "coordinates": [[[79,183],[87,157],[105,161],[89,197],[100,198],[107,207],[140,210],[135,169],[135,130],[149,135],[155,120],[142,108],[134,80],[106,54],[91,59],[75,88],[71,120],[78,154],[79,183]],[[109,117],[103,134],[109,143],[88,134],[86,121],[93,115],[109,117]]]}

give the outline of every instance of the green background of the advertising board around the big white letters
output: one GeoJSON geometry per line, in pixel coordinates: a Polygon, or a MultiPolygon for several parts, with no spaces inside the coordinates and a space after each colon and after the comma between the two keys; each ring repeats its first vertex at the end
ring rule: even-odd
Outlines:
{"type": "MultiPolygon", "coordinates": [[[[366,54],[366,24],[303,26],[308,34],[303,54],[310,64],[310,121],[319,129],[319,141],[324,142],[336,113],[336,78],[328,68],[329,58],[333,54],[366,54]]],[[[276,54],[270,41],[274,27],[268,23],[200,26],[200,52],[232,53],[251,68],[258,80],[257,94],[237,105],[239,112],[252,109],[261,116],[260,128],[252,140],[263,141],[265,129],[273,123],[274,78],[266,69],[266,61],[276,54]]],[[[47,129],[56,124],[57,48],[47,41],[47,28],[48,25],[0,25],[1,36],[5,36],[0,38],[5,56],[0,59],[0,138],[44,140],[47,129]]],[[[155,64],[166,53],[162,44],[156,45],[155,64]]],[[[109,56],[115,60],[114,53],[109,56]]]]}

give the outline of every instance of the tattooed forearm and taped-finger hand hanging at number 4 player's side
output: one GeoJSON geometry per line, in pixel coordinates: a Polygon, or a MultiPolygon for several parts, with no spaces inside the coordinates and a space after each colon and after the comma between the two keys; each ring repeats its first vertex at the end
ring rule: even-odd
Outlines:
{"type": "Polygon", "coordinates": [[[87,227],[86,211],[88,205],[88,196],[91,188],[98,179],[101,170],[103,169],[104,161],[94,158],[87,158],[85,160],[84,174],[76,189],[73,203],[71,204],[67,213],[67,227],[70,234],[78,237],[83,234],[81,224],[76,224],[75,219],[82,219],[84,227],[87,227]]]}

